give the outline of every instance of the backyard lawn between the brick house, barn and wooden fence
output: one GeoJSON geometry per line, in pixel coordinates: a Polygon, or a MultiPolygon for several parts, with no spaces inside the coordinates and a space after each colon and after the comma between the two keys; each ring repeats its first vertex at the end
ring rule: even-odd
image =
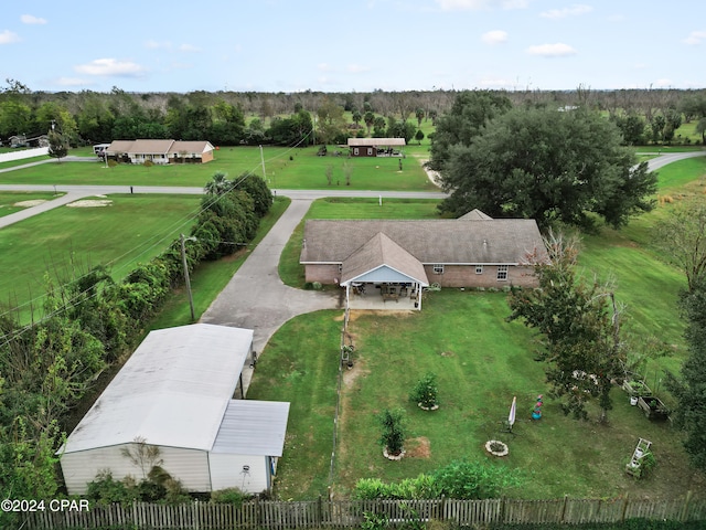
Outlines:
{"type": "MultiPolygon", "coordinates": [[[[425,300],[420,314],[353,314],[350,332],[354,367],[343,372],[332,487],[345,496],[362,477],[396,480],[468,457],[520,469],[525,481],[507,491],[520,498],[678,496],[706,492],[686,463],[678,433],[652,423],[613,390],[610,424],[564,416],[545,395],[544,416],[530,417],[539,393],[546,394],[542,364],[533,360],[534,337],[518,322],[507,324],[502,293],[447,289],[425,300]],[[439,411],[408,401],[417,379],[438,375],[439,411]],[[517,396],[514,433],[502,432],[510,403],[517,396]],[[376,415],[404,407],[407,457],[383,458],[376,415]],[[623,473],[639,437],[653,442],[654,477],[635,483],[623,473]],[[501,439],[510,456],[489,458],[483,444],[501,439]]],[[[272,338],[260,358],[249,399],[291,401],[277,495],[282,499],[325,495],[335,410],[341,314],[297,317],[272,338]]],[[[596,417],[597,411],[590,410],[596,417]]],[[[700,481],[699,481],[700,480],[700,481]]]]}

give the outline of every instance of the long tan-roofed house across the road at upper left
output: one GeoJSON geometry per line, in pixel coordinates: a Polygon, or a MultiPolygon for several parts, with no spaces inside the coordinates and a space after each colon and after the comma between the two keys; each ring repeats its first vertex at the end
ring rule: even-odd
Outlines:
{"type": "Polygon", "coordinates": [[[114,140],[105,153],[109,159],[131,163],[206,163],[215,148],[210,141],[114,140]]]}

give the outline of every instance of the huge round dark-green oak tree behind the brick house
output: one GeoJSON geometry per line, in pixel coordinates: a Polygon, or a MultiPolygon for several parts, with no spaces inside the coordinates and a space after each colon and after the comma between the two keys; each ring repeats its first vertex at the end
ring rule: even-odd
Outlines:
{"type": "Polygon", "coordinates": [[[656,190],[655,174],[621,141],[614,124],[588,110],[515,107],[449,147],[440,210],[582,227],[592,212],[620,227],[653,208],[656,190]]]}

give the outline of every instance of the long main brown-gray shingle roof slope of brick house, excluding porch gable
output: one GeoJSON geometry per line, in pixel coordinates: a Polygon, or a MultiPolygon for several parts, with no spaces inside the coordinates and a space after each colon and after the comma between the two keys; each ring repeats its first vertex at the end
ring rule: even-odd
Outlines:
{"type": "Polygon", "coordinates": [[[343,263],[378,232],[422,264],[521,264],[544,243],[534,220],[309,220],[300,263],[343,263]]]}

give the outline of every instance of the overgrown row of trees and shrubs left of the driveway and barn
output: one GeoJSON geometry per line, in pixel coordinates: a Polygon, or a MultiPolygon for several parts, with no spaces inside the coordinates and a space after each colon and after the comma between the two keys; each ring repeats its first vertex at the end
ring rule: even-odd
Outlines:
{"type": "MultiPolygon", "coordinates": [[[[188,267],[233,254],[255,236],[272,195],[265,181],[223,173],[206,184],[186,246],[188,267]]],[[[2,498],[47,499],[60,492],[55,452],[67,414],[96,378],[136,344],[146,322],[181,285],[181,243],[114,282],[98,266],[67,283],[45,277],[39,321],[23,326],[0,316],[0,492],[2,498]]],[[[0,518],[11,517],[0,513],[0,518]]],[[[0,522],[3,522],[0,519],[0,522]]],[[[2,524],[0,524],[2,526],[2,524]]],[[[4,527],[3,527],[4,528],[4,527]]],[[[9,528],[9,527],[8,527],[9,528]]]]}

